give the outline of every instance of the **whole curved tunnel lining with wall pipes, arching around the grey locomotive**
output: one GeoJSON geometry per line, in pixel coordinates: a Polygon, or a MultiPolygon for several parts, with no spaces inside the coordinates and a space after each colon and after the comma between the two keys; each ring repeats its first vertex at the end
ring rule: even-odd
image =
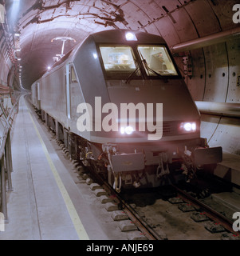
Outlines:
{"type": "Polygon", "coordinates": [[[166,40],[199,108],[201,137],[222,146],[214,175],[240,186],[237,0],[1,0],[0,11],[1,137],[18,98],[89,34],[143,31],[166,40]]]}

